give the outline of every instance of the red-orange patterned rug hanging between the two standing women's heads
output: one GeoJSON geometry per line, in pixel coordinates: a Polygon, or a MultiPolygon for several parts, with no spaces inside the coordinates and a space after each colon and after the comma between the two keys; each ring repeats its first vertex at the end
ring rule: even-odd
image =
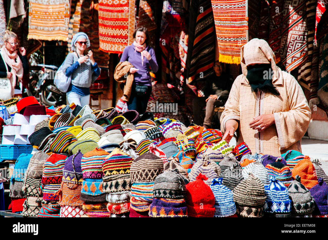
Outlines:
{"type": "Polygon", "coordinates": [[[99,0],[100,50],[122,53],[133,43],[135,0],[99,0]]]}

